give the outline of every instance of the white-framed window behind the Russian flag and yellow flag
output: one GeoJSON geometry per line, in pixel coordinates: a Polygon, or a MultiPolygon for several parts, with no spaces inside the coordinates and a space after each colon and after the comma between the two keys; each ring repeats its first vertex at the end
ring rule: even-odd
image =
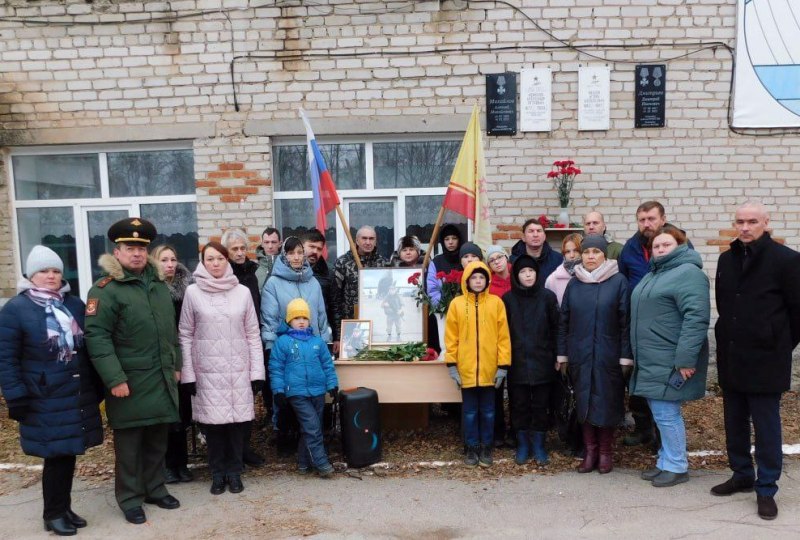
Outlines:
{"type": "MultiPolygon", "coordinates": [[[[345,141],[320,144],[351,232],[372,225],[378,252],[391,256],[400,237],[413,234],[426,245],[455,166],[460,140],[437,137],[414,141],[345,141]]],[[[298,235],[313,227],[306,145],[273,147],[275,223],[281,234],[298,235]]],[[[350,248],[335,212],[327,216],[328,263],[350,248]]],[[[445,222],[465,223],[448,212],[445,222]]]]}

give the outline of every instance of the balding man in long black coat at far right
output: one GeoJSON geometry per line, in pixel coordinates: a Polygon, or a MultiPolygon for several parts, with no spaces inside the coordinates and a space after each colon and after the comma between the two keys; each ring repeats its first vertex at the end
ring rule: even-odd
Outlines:
{"type": "Polygon", "coordinates": [[[736,210],[739,237],[719,257],[717,368],[725,410],[725,442],[733,477],[713,495],[755,488],[758,515],[775,519],[783,465],[781,393],[789,390],[792,350],[800,342],[800,253],[770,238],[763,205],[736,210]],[[755,429],[757,476],[750,457],[755,429]]]}

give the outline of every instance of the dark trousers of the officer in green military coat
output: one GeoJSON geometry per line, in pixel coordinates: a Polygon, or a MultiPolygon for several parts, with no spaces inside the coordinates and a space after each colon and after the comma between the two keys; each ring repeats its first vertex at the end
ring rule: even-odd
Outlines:
{"type": "Polygon", "coordinates": [[[164,456],[169,424],[114,430],[114,495],[123,511],[141,506],[145,497],[169,495],[164,486],[164,456]]]}

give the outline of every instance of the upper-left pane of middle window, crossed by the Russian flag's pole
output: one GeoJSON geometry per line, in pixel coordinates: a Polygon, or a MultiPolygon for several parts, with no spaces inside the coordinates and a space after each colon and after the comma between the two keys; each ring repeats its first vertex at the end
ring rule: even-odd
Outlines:
{"type": "MultiPolygon", "coordinates": [[[[363,143],[322,144],[320,151],[337,190],[366,187],[363,143]]],[[[275,146],[273,154],[277,191],[311,191],[306,145],[275,146]]]]}

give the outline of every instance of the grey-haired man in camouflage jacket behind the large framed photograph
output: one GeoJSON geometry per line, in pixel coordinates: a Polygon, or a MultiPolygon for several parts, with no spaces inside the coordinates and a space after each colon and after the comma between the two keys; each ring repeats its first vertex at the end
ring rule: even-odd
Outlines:
{"type": "MultiPolygon", "coordinates": [[[[358,229],[358,232],[356,232],[356,250],[363,268],[389,266],[389,261],[378,253],[377,245],[378,234],[375,232],[374,227],[364,225],[358,229]]],[[[337,310],[335,320],[352,319],[355,313],[355,305],[358,303],[358,265],[352,251],[348,250],[347,253],[336,259],[336,264],[333,267],[333,277],[334,309],[337,310]]],[[[340,328],[333,329],[334,352],[339,352],[339,331],[340,328]]]]}

